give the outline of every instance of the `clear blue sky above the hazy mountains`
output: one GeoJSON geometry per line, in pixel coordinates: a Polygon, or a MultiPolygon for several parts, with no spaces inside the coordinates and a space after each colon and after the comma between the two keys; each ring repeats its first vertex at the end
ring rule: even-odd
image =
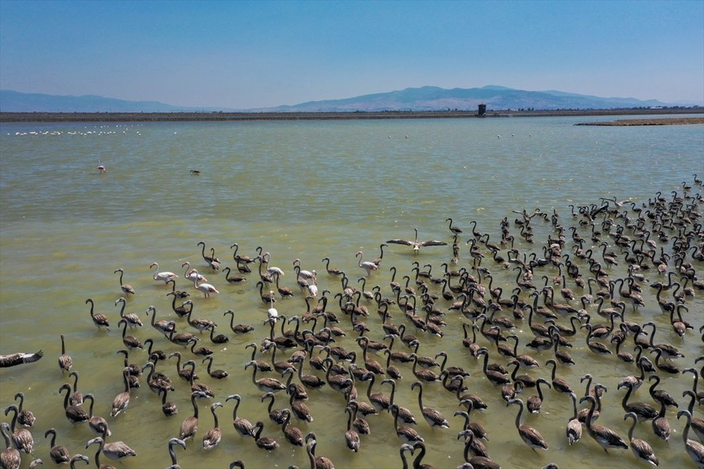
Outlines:
{"type": "Polygon", "coordinates": [[[704,103],[704,1],[0,0],[0,89],[258,108],[488,84],[704,103]]]}

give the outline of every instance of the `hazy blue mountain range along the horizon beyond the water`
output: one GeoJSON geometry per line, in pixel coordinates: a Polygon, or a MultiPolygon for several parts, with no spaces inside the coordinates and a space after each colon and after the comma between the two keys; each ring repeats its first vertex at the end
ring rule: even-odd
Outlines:
{"type": "Polygon", "coordinates": [[[655,99],[602,98],[565,91],[526,91],[505,86],[444,89],[438,86],[406,88],[386,93],[367,94],[353,98],[309,101],[274,108],[232,109],[194,108],[159,103],[157,101],[126,101],[103,96],[57,96],[0,90],[0,112],[44,113],[196,113],[196,112],[355,112],[355,111],[432,111],[476,110],[486,104],[488,110],[584,110],[614,108],[653,108],[684,106],[655,99]]]}

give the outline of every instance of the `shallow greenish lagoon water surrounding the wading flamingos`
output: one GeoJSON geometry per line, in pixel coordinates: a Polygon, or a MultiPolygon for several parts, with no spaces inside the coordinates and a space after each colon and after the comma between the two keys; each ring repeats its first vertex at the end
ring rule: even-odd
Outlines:
{"type": "MultiPolygon", "coordinates": [[[[56,365],[61,353],[59,335],[63,333],[68,353],[73,356],[73,369],[80,372],[80,390],[95,394],[96,413],[108,418],[111,425],[113,436],[108,441],[123,440],[139,454],[113,464],[125,468],[168,465],[168,439],[177,436],[181,421],[192,412],[187,383],[178,380],[176,391],[169,394],[180,409],[175,417],[163,416],[161,400],[146,387],[146,378],[142,378],[140,389],[132,391],[127,411],[115,418],[108,416],[113,397],[123,390],[122,358],[115,355],[122,348],[117,326],[119,309],[114,305],[122,293],[118,275],[113,274],[115,269],[124,269],[125,283],[137,290],[137,295],[127,300],[127,312],[137,312],[145,322],[143,328],[130,334],[140,340],[153,338],[156,347],[166,352],[182,350],[147,325],[144,311],[154,305],[157,319],[173,319],[179,330],[199,335],[185,319],[176,318],[170,309],[171,297],[165,296],[167,288],[153,281],[149,264],[158,262],[162,270],[180,276],[179,288],[191,291],[194,316],[215,321],[218,333],[230,336],[227,345],[213,345],[206,335],[199,343],[215,349],[213,367],[225,369],[230,377],[210,378],[196,357],[201,381],[213,387],[215,399],[199,402],[200,423],[195,441],[189,441],[185,451],[176,449],[181,465],[227,467],[230,461],[241,458],[248,467],[306,467],[305,449],[285,442],[279,428],[268,420],[265,404],[260,402],[261,393],[251,383],[251,368],[244,371],[251,356],[251,349],[245,349],[245,345],[259,343],[269,333],[268,326],[263,326],[268,306],[259,298],[256,269],[244,283],[227,283],[221,271],[214,272],[203,261],[197,243],[206,243],[207,250],[215,248],[223,266],[233,268],[233,243],[239,244],[239,254],[253,256],[258,246],[270,252],[270,265],[285,272],[280,278],[282,286],[295,292],[293,298],[279,297],[275,304],[279,314],[290,317],[306,311],[303,294],[295,283],[294,259],[301,259],[303,269],[317,270],[318,288],[327,288],[334,296],[341,291],[341,284],[339,278],[325,273],[322,257],[330,257],[331,266],[346,271],[351,285],[360,286],[358,278],[365,271],[358,267],[356,252],[361,250],[363,260],[371,260],[379,255],[380,243],[391,238],[413,239],[414,228],[418,229],[420,240],[452,243],[447,217],[453,217],[464,230],[460,236],[460,259],[454,267],[469,268],[469,246],[465,242],[471,236],[471,221],[477,222],[477,231],[489,233],[490,240],[498,243],[501,220],[508,217],[510,232],[516,238],[515,248],[543,257],[548,235],[553,235],[551,224],[534,221],[535,242],[525,243],[520,239],[520,228],[513,223],[517,217],[514,210],[532,212],[539,208],[548,214],[555,211],[566,228],[574,224],[589,239],[589,228],[576,224],[570,205],[600,204],[600,198],[616,198],[632,200],[640,207],[655,198],[658,191],[668,200],[672,191],[681,195],[683,181],[694,186],[690,194],[701,195],[702,188],[693,184],[692,175],[704,177],[703,126],[573,125],[604,119],[608,118],[2,124],[0,353],[43,349],[45,356],[36,364],[0,370],[0,405],[4,408],[11,404],[15,392],[25,392],[26,406],[37,413],[32,432],[37,442],[35,454],[44,459],[44,465],[53,464],[47,454],[48,440],[42,438],[47,428],[57,429],[58,442],[68,446],[72,454],[86,451],[84,444],[93,435],[87,428],[73,428],[68,423],[61,409],[63,398],[58,394],[58,387],[69,381],[56,365]],[[98,174],[98,165],[105,165],[106,174],[98,174]],[[191,174],[191,169],[200,173],[191,174]],[[185,261],[201,271],[220,294],[206,299],[193,290],[184,280],[181,265],[185,261]],[[110,319],[109,332],[96,330],[90,320],[85,304],[89,297],[93,298],[96,311],[110,319]],[[236,311],[236,323],[251,324],[256,331],[249,337],[235,336],[222,317],[227,309],[236,311]],[[239,416],[253,423],[263,420],[263,434],[276,437],[281,444],[279,450],[267,453],[251,439],[242,439],[234,432],[232,401],[225,403],[225,399],[236,393],[241,394],[243,402],[239,416]],[[214,401],[225,404],[224,409],[218,409],[223,437],[216,449],[204,451],[201,439],[213,426],[208,405],[214,401]]],[[[698,211],[702,209],[699,203],[698,211]]],[[[572,252],[570,235],[571,231],[565,233],[572,252]]],[[[612,238],[606,239],[609,249],[615,248],[612,238]]],[[[671,252],[671,245],[662,247],[671,252]]],[[[507,257],[506,249],[501,251],[503,257],[507,257]]],[[[601,252],[598,247],[593,250],[601,252]]],[[[366,289],[379,285],[384,296],[390,296],[390,266],[398,269],[396,281],[412,274],[415,260],[421,266],[431,264],[432,273],[440,275],[440,264],[451,256],[449,246],[422,248],[420,255],[413,255],[406,246],[389,245],[384,249],[381,268],[367,279],[366,289]]],[[[601,259],[596,254],[595,257],[601,259]]],[[[579,261],[578,265],[586,272],[586,263],[579,261]]],[[[515,271],[501,269],[488,256],[482,266],[491,269],[494,286],[501,285],[505,295],[515,286],[515,271]]],[[[694,266],[698,273],[703,267],[696,261],[694,266]]],[[[539,285],[543,284],[543,274],[553,278],[558,271],[553,267],[536,269],[535,281],[539,285]]],[[[626,275],[621,256],[620,264],[609,271],[609,276],[626,275]]],[[[653,271],[646,275],[650,281],[657,280],[653,271]]],[[[440,288],[433,286],[432,290],[439,293],[440,288]]],[[[698,296],[687,300],[688,320],[695,330],[681,339],[672,332],[669,318],[660,313],[653,291],[644,290],[646,307],[636,313],[629,307],[627,319],[639,323],[655,321],[656,342],[672,342],[685,352],[686,358],[677,361],[679,368],[693,366],[693,360],[702,354],[702,342],[696,332],[704,323],[701,294],[697,292],[698,296]]],[[[523,297],[528,299],[527,295],[523,297]]],[[[449,303],[439,300],[438,305],[446,309],[449,303]]],[[[375,310],[371,302],[367,306],[375,310]]],[[[329,309],[339,314],[336,302],[331,302],[329,309]]],[[[593,313],[591,309],[596,307],[589,309],[593,313]]],[[[397,307],[392,307],[391,312],[394,323],[407,323],[410,327],[397,307]]],[[[340,345],[356,349],[356,333],[351,330],[349,319],[339,316],[338,326],[348,333],[339,340],[340,345]]],[[[539,453],[529,449],[513,426],[517,409],[505,407],[498,388],[486,382],[481,362],[475,361],[461,345],[461,323],[469,320],[453,311],[448,311],[445,320],[448,327],[444,338],[413,328],[409,332],[421,338],[419,353],[433,356],[446,350],[448,364],[458,364],[472,373],[467,383],[470,392],[479,394],[489,404],[486,411],[473,412],[473,420],[485,425],[489,454],[504,468],[541,467],[549,462],[564,467],[613,467],[620,465],[620,458],[626,458],[631,466],[640,464],[629,451],[610,450],[605,454],[586,431],[582,441],[568,447],[564,429],[572,415],[572,404],[568,397],[551,390],[539,416],[523,416],[524,423],[541,431],[550,449],[539,453]]],[[[565,318],[559,321],[567,324],[565,318]]],[[[379,317],[372,314],[366,322],[372,329],[367,335],[382,340],[379,317]]],[[[527,321],[519,322],[516,333],[523,352],[531,352],[541,362],[541,368],[528,373],[549,380],[550,368],[544,362],[552,353],[532,352],[524,347],[532,336],[527,321]]],[[[558,374],[578,395],[584,391],[579,384],[584,373],[591,373],[596,383],[606,385],[603,420],[599,422],[626,437],[629,422],[622,420],[620,408],[624,390],[617,390],[617,383],[625,375],[637,374],[636,368],[589,352],[584,333],[581,330],[572,340],[574,348],[570,353],[577,364],[570,368],[560,366],[558,374]]],[[[498,356],[494,345],[483,337],[479,342],[491,349],[491,361],[508,361],[498,356]]],[[[394,349],[404,348],[394,345],[394,349]]],[[[611,348],[615,350],[612,345],[611,348]]],[[[188,357],[184,359],[191,358],[191,352],[183,353],[188,357]]],[[[277,354],[277,360],[282,356],[277,354]]],[[[270,355],[258,353],[256,358],[270,359],[270,355]]],[[[377,361],[384,363],[384,359],[382,354],[377,356],[377,361]]],[[[145,361],[146,353],[130,353],[130,362],[145,361]]],[[[175,362],[169,362],[159,367],[177,380],[173,373],[175,362]]],[[[426,386],[424,404],[441,410],[451,423],[451,430],[429,428],[420,417],[416,391],[410,389],[414,381],[410,366],[399,368],[404,378],[398,383],[396,400],[419,420],[417,429],[428,446],[425,462],[454,468],[463,462],[463,444],[456,439],[462,419],[453,417],[458,410],[455,398],[439,385],[426,386]]],[[[309,366],[304,371],[323,376],[309,366]]],[[[373,392],[388,393],[389,387],[379,387],[379,382],[373,392]]],[[[691,389],[691,385],[691,374],[687,374],[667,375],[661,386],[679,400],[681,409],[688,402],[681,398],[681,392],[691,389]]],[[[365,383],[358,383],[360,397],[366,388],[365,383]]],[[[384,413],[368,417],[372,435],[363,435],[359,453],[352,454],[344,447],[344,399],[327,386],[309,394],[307,404],[315,420],[303,423],[294,419],[292,424],[304,434],[316,432],[318,456],[331,458],[338,468],[401,466],[400,441],[394,435],[391,416],[384,413]]],[[[530,394],[524,392],[523,399],[530,394]]],[[[651,401],[646,386],[633,399],[651,401]]],[[[286,405],[286,397],[277,394],[276,406],[286,405]]],[[[701,411],[697,412],[701,416],[701,411]]],[[[660,467],[692,467],[681,440],[684,422],[675,415],[675,411],[667,411],[673,428],[669,442],[657,439],[649,422],[639,423],[634,436],[650,442],[660,458],[660,467]]],[[[88,450],[91,456],[94,448],[88,450]]],[[[28,467],[31,459],[23,458],[23,467],[28,467]]],[[[101,462],[108,461],[103,457],[101,462]]]]}

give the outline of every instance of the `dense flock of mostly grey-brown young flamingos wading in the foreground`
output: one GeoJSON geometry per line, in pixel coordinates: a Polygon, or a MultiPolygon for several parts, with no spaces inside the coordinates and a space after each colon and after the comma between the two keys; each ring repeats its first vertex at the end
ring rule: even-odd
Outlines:
{"type": "MultiPolygon", "coordinates": [[[[658,192],[640,204],[601,199],[591,205],[570,206],[567,217],[554,210],[515,211],[513,221],[508,217],[501,221],[497,243],[490,241],[489,233],[478,231],[476,222],[471,223],[472,229],[463,230],[448,218],[448,233],[443,235],[447,241],[419,241],[417,231],[413,240],[386,240],[376,259],[365,260],[363,252],[356,252],[356,272],[331,266],[330,257],[322,259],[325,268],[320,273],[303,269],[299,259],[294,260],[292,269],[283,269],[275,266],[272,254],[261,247],[251,256],[239,254],[237,243],[230,246],[234,265],[225,266],[215,256],[215,248],[206,252],[206,243],[201,241],[201,271],[188,262],[181,265],[182,274],[163,271],[157,262],[149,265],[153,281],[165,290],[161,299],[153,299],[157,306],[150,306],[143,315],[125,311],[141,293],[124,283],[123,269],[115,269],[123,295],[115,302],[119,316],[95,312],[91,298],[85,303],[90,305],[90,319],[98,330],[111,332],[113,323],[120,329],[122,342],[114,352],[124,355],[120,369],[124,390],[114,397],[107,419],[94,415],[94,404],[107,403],[109,397],[99,399],[77,389],[77,368],[89,364],[74,363],[70,343],[61,335],[61,353],[57,337],[56,356],[62,376],[68,377],[59,388],[65,416],[71,425],[89,427],[87,432],[93,435],[87,438],[84,450],[95,445],[96,467],[108,468],[101,463],[103,456],[116,461],[139,458],[127,443],[116,438],[128,435],[112,437],[110,429],[121,413],[134,408],[130,397],[137,392],[155,393],[163,418],[170,419],[179,409],[168,399],[169,394],[184,392],[192,413],[182,421],[178,435],[164,435],[170,468],[180,467],[177,447],[186,451],[188,440],[188,446],[201,446],[202,442],[203,450],[213,450],[222,439],[237,437],[238,444],[251,438],[263,451],[300,446],[311,468],[325,469],[333,468],[334,463],[316,454],[315,431],[337,429],[316,426],[315,415],[306,405],[308,399],[325,395],[339,401],[340,421],[344,422],[339,441],[355,453],[364,451],[365,439],[376,431],[377,420],[388,419],[398,437],[393,448],[398,466],[434,467],[424,461],[429,448],[422,435],[451,431],[463,445],[465,462],[459,467],[480,469],[506,464],[501,447],[491,446],[491,435],[481,423],[491,417],[491,407],[515,409],[515,444],[548,451],[549,458],[548,448],[555,442],[546,440],[539,431],[541,411],[552,399],[567,399],[573,410],[564,419],[567,448],[589,445],[614,455],[628,449],[632,459],[623,455],[624,465],[634,467],[636,461],[658,465],[658,455],[649,442],[669,441],[673,428],[681,428],[682,442],[670,442],[672,450],[686,451],[693,465],[704,468],[704,420],[700,418],[704,367],[696,368],[704,356],[685,356],[680,350],[684,342],[699,341],[701,347],[704,341],[704,311],[690,308],[704,289],[699,278],[704,266],[702,188],[695,175],[693,186],[683,183],[681,191],[672,191],[670,196],[658,192]],[[534,237],[539,224],[547,227],[547,239],[534,237]],[[409,246],[415,253],[413,259],[423,259],[427,248],[432,248],[434,255],[446,252],[446,261],[433,266],[415,260],[403,272],[384,262],[384,248],[391,249],[391,244],[409,246]],[[618,276],[618,272],[625,272],[625,276],[618,276]],[[220,281],[218,288],[206,275],[220,281]],[[515,281],[507,281],[503,287],[495,285],[499,277],[514,276],[515,281]],[[358,281],[351,283],[351,278],[358,281]],[[283,284],[284,279],[290,286],[283,284]],[[190,282],[192,288],[177,289],[182,282],[190,282]],[[253,304],[262,308],[257,313],[260,320],[235,324],[240,313],[233,309],[221,316],[229,317],[230,326],[225,328],[213,319],[194,317],[194,305],[227,293],[225,285],[245,287],[233,294],[252,295],[253,304]],[[189,292],[197,295],[197,300],[189,292]],[[163,313],[162,304],[170,304],[172,314],[163,313]],[[294,304],[301,312],[288,314],[294,304]],[[597,318],[605,322],[598,323],[597,318]],[[293,327],[289,327],[291,323],[293,327]],[[662,323],[669,324],[669,330],[664,330],[662,323]],[[150,325],[154,332],[146,340],[132,335],[133,330],[146,330],[150,325]],[[463,330],[461,344],[446,343],[447,328],[463,330]],[[663,340],[666,335],[670,342],[663,340]],[[210,347],[201,343],[201,337],[209,338],[210,347]],[[235,338],[246,345],[239,350],[218,350],[235,338]],[[159,342],[164,349],[176,351],[156,349],[159,342]],[[422,353],[436,347],[451,352],[422,353]],[[148,359],[130,364],[129,359],[142,353],[148,359]],[[579,354],[601,356],[604,366],[631,371],[622,375],[616,387],[592,386],[591,374],[583,375],[579,383],[560,377],[560,370],[579,361],[579,354]],[[231,383],[232,394],[216,399],[208,383],[227,379],[232,373],[232,369],[213,369],[219,360],[246,371],[251,368],[251,383],[231,383]],[[164,368],[174,361],[177,375],[169,376],[164,368]],[[196,374],[199,364],[200,376],[196,374]],[[684,375],[691,375],[693,385],[678,394],[673,396],[660,387],[660,383],[684,375]],[[580,395],[577,387],[583,382],[586,390],[580,395]],[[643,384],[648,398],[634,401],[631,396],[643,384]],[[238,416],[244,394],[251,393],[249,386],[256,387],[261,403],[265,403],[258,414],[254,406],[247,407],[254,423],[238,416]],[[417,404],[394,399],[401,394],[397,392],[401,387],[417,395],[417,404]],[[620,402],[605,400],[614,394],[618,399],[623,394],[620,402]],[[283,395],[287,396],[283,400],[286,404],[275,409],[275,402],[283,395]],[[235,432],[228,434],[220,428],[217,412],[231,400],[235,432]],[[199,417],[203,401],[210,402],[212,427],[199,417]],[[428,401],[454,401],[456,411],[444,415],[427,406],[428,401]],[[628,420],[627,433],[601,425],[598,419],[605,413],[628,420]],[[584,441],[584,429],[588,441],[584,441]]],[[[137,335],[144,337],[142,332],[137,335]]],[[[32,363],[43,354],[0,356],[0,365],[36,366],[32,363]]],[[[9,420],[0,425],[6,446],[0,455],[2,468],[19,468],[25,454],[32,460],[29,467],[41,463],[37,456],[44,455],[72,468],[88,464],[87,456],[71,456],[80,449],[56,443],[61,439],[60,423],[51,423],[50,428],[42,416],[35,423],[28,406],[23,407],[31,404],[31,395],[26,397],[18,392],[18,404],[4,409],[9,420]],[[32,431],[39,423],[44,437],[51,437],[50,444],[42,439],[35,442],[41,432],[33,435],[32,431]]],[[[338,465],[351,464],[339,461],[338,465]]],[[[238,459],[230,468],[244,466],[238,459]]]]}

